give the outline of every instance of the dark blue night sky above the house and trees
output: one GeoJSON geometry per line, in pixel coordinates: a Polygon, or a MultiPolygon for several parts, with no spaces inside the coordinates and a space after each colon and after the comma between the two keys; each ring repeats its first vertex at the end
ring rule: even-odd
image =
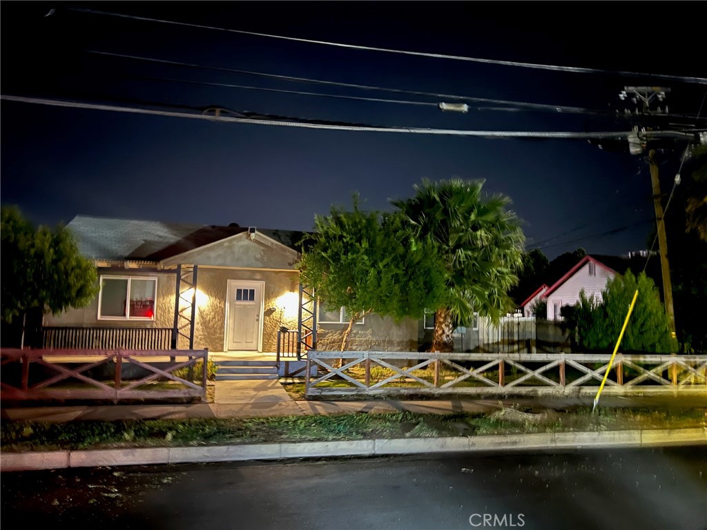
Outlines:
{"type": "MultiPolygon", "coordinates": [[[[70,8],[369,47],[707,77],[704,25],[697,6],[682,2],[4,1],[0,6],[1,92],[178,112],[221,107],[375,126],[626,131],[630,124],[612,116],[626,107],[617,97],[624,86],[670,87],[670,112],[697,115],[707,85],[411,57],[70,8]],[[52,8],[54,12],[46,16],[52,8]],[[469,112],[457,114],[441,112],[434,105],[226,88],[204,83],[435,105],[445,100],[284,81],[206,66],[609,112],[478,110],[481,104],[469,102],[469,112]]],[[[693,123],[704,128],[707,109],[701,112],[701,122],[693,123]]],[[[1,102],[0,125],[1,201],[17,204],[35,223],[68,223],[82,214],[311,230],[315,213],[327,213],[332,204],[350,206],[351,192],[361,194],[364,208],[389,209],[388,199],[411,196],[413,185],[423,178],[460,177],[486,179],[488,192],[510,196],[524,221],[527,247],[539,247],[549,257],[577,247],[596,254],[644,249],[652,230],[645,158],[600,149],[586,140],[294,129],[6,100],[1,102]]],[[[664,191],[670,189],[681,154],[661,157],[664,191]]]]}

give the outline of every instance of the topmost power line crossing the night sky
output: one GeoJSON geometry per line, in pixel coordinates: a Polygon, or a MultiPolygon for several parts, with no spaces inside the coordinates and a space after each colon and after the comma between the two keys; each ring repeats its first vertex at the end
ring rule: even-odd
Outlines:
{"type": "Polygon", "coordinates": [[[326,46],[333,46],[333,47],[340,47],[340,48],[347,48],[347,49],[358,49],[358,50],[364,50],[364,51],[368,51],[368,52],[385,52],[385,53],[393,53],[393,54],[413,55],[416,57],[429,57],[432,59],[451,59],[451,60],[455,60],[455,61],[467,61],[467,62],[476,62],[476,63],[482,63],[482,64],[498,64],[501,66],[518,66],[520,68],[563,71],[563,72],[570,72],[570,73],[604,73],[604,74],[608,73],[608,74],[619,75],[619,76],[645,77],[645,78],[652,78],[652,79],[661,79],[661,80],[665,80],[665,81],[682,81],[684,83],[698,83],[698,84],[703,84],[703,85],[707,84],[707,78],[701,78],[701,77],[672,76],[672,75],[665,75],[665,74],[641,73],[641,72],[632,72],[632,71],[612,71],[612,70],[594,69],[594,68],[579,68],[576,66],[558,66],[558,65],[551,65],[551,64],[536,64],[536,63],[527,63],[527,62],[518,62],[518,61],[500,61],[497,59],[480,59],[478,57],[464,57],[461,55],[435,54],[435,53],[427,53],[427,52],[412,52],[409,50],[402,50],[402,49],[350,45],[350,44],[344,44],[343,42],[329,42],[329,41],[325,41],[325,40],[312,40],[312,39],[303,39],[303,38],[298,38],[298,37],[287,37],[285,35],[272,35],[269,33],[257,33],[255,31],[233,30],[230,28],[220,28],[218,26],[212,26],[212,25],[177,22],[175,20],[164,20],[164,19],[160,19],[160,18],[149,18],[149,17],[144,17],[144,16],[126,15],[124,13],[112,13],[109,11],[97,11],[95,9],[88,9],[88,8],[69,7],[66,9],[68,11],[78,11],[80,13],[89,13],[92,15],[112,16],[112,17],[118,17],[118,18],[130,18],[132,20],[142,20],[144,22],[156,22],[156,23],[160,23],[160,24],[180,25],[180,26],[185,26],[188,28],[199,28],[202,30],[224,31],[227,33],[238,33],[240,35],[252,35],[254,37],[268,37],[268,38],[272,38],[272,39],[289,40],[289,41],[293,41],[293,42],[305,42],[308,44],[326,45],[326,46]]]}

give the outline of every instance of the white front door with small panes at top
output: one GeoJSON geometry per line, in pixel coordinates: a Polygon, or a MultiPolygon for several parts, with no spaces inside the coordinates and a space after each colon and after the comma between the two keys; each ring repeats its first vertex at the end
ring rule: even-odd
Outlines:
{"type": "Polygon", "coordinates": [[[228,350],[260,350],[264,285],[262,281],[228,281],[228,350]]]}

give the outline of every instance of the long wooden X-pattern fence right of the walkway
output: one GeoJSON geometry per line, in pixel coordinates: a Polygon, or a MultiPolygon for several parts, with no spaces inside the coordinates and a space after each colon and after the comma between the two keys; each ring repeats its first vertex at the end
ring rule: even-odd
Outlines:
{"type": "MultiPolygon", "coordinates": [[[[309,351],[305,394],[593,396],[610,359],[582,353],[309,351]],[[318,369],[315,377],[312,365],[318,369]]],[[[604,387],[604,394],[666,391],[703,393],[707,399],[707,355],[619,354],[604,387]]]]}

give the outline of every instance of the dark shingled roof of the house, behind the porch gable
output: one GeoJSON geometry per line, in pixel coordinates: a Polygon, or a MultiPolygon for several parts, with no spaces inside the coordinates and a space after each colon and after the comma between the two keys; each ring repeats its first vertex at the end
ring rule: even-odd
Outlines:
{"type": "MultiPolygon", "coordinates": [[[[241,226],[191,225],[160,221],[76,216],[67,225],[78,249],[93,259],[161,261],[246,232],[241,226]]],[[[300,250],[305,232],[257,228],[276,242],[300,250]]]]}

